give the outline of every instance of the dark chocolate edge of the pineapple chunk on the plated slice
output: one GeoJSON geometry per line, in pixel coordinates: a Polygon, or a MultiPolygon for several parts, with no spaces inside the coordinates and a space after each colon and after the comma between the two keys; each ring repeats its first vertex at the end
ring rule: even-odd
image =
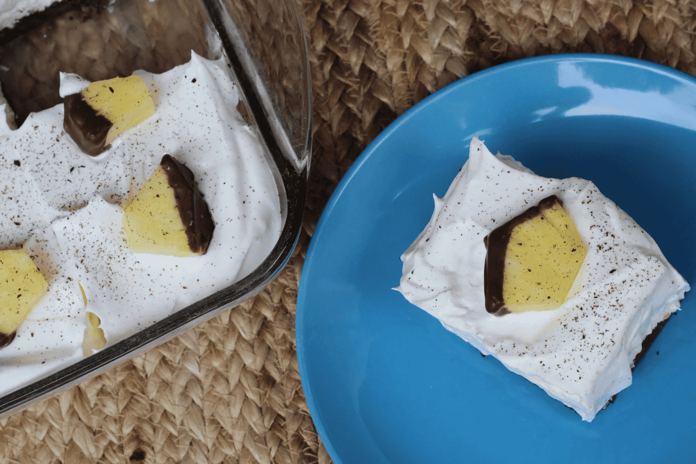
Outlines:
{"type": "Polygon", "coordinates": [[[483,270],[483,288],[486,296],[486,311],[496,316],[509,314],[510,310],[505,307],[503,299],[503,275],[505,271],[505,256],[507,255],[507,243],[512,236],[512,230],[537,216],[540,216],[546,209],[551,209],[555,205],[563,206],[561,200],[556,195],[551,195],[524,211],[519,216],[507,221],[493,229],[490,234],[484,237],[486,246],[486,264],[483,270]]]}

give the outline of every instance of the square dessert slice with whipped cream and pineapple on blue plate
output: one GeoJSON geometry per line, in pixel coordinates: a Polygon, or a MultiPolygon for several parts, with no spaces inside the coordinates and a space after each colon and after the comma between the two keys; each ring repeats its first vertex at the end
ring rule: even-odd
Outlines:
{"type": "Polygon", "coordinates": [[[478,138],[398,290],[591,422],[688,291],[592,182],[535,175],[478,138]]]}

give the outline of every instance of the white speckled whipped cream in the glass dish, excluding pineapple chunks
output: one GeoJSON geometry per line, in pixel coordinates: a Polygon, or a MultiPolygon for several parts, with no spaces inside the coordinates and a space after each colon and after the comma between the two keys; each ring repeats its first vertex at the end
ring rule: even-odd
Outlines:
{"type": "MultiPolygon", "coordinates": [[[[270,253],[282,227],[278,186],[262,143],[236,111],[226,61],[191,61],[163,74],[136,72],[155,115],[97,157],[63,132],[63,105],[0,122],[0,249],[22,248],[49,283],[45,298],[0,350],[0,394],[83,358],[86,312],[108,344],[231,285],[270,253]],[[134,198],[163,154],[193,172],[215,222],[207,254],[134,253],[122,232],[122,205],[134,198]],[[82,290],[87,298],[84,303],[82,290]]],[[[61,95],[84,80],[61,76],[61,95]]],[[[76,90],[77,89],[77,90],[76,90]]]]}

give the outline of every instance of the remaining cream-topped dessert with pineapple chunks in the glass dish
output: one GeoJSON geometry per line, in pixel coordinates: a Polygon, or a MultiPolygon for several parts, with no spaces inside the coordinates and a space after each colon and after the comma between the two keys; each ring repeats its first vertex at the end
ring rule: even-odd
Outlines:
{"type": "Polygon", "coordinates": [[[0,396],[228,287],[278,241],[278,185],[214,45],[160,74],[61,73],[63,102],[0,121],[0,396]]]}

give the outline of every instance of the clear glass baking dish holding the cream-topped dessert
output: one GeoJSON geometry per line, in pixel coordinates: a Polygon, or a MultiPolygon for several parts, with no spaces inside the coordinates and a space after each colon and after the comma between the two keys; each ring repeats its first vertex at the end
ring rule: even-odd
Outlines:
{"type": "MultiPolygon", "coordinates": [[[[274,170],[282,228],[271,253],[246,277],[0,397],[0,417],[99,374],[257,294],[290,258],[301,230],[308,189],[311,83],[306,38],[294,0],[68,0],[27,15],[12,29],[0,31],[0,79],[19,124],[29,112],[61,102],[58,71],[76,72],[61,69],[60,63],[44,66],[48,70],[42,70],[43,74],[36,71],[38,61],[46,61],[36,50],[41,49],[42,40],[56,34],[65,34],[68,47],[63,48],[71,48],[72,43],[71,53],[90,60],[87,68],[93,75],[83,77],[91,81],[122,77],[139,69],[161,73],[188,61],[191,49],[205,58],[217,58],[209,55],[221,52],[241,90],[237,109],[258,131],[274,170]],[[120,54],[95,56],[95,47],[89,43],[72,43],[70,34],[78,37],[76,27],[109,28],[109,34],[103,35],[118,42],[120,54]],[[22,82],[17,73],[35,81],[22,82]]],[[[102,52],[109,49],[109,44],[102,48],[102,52]]]]}

